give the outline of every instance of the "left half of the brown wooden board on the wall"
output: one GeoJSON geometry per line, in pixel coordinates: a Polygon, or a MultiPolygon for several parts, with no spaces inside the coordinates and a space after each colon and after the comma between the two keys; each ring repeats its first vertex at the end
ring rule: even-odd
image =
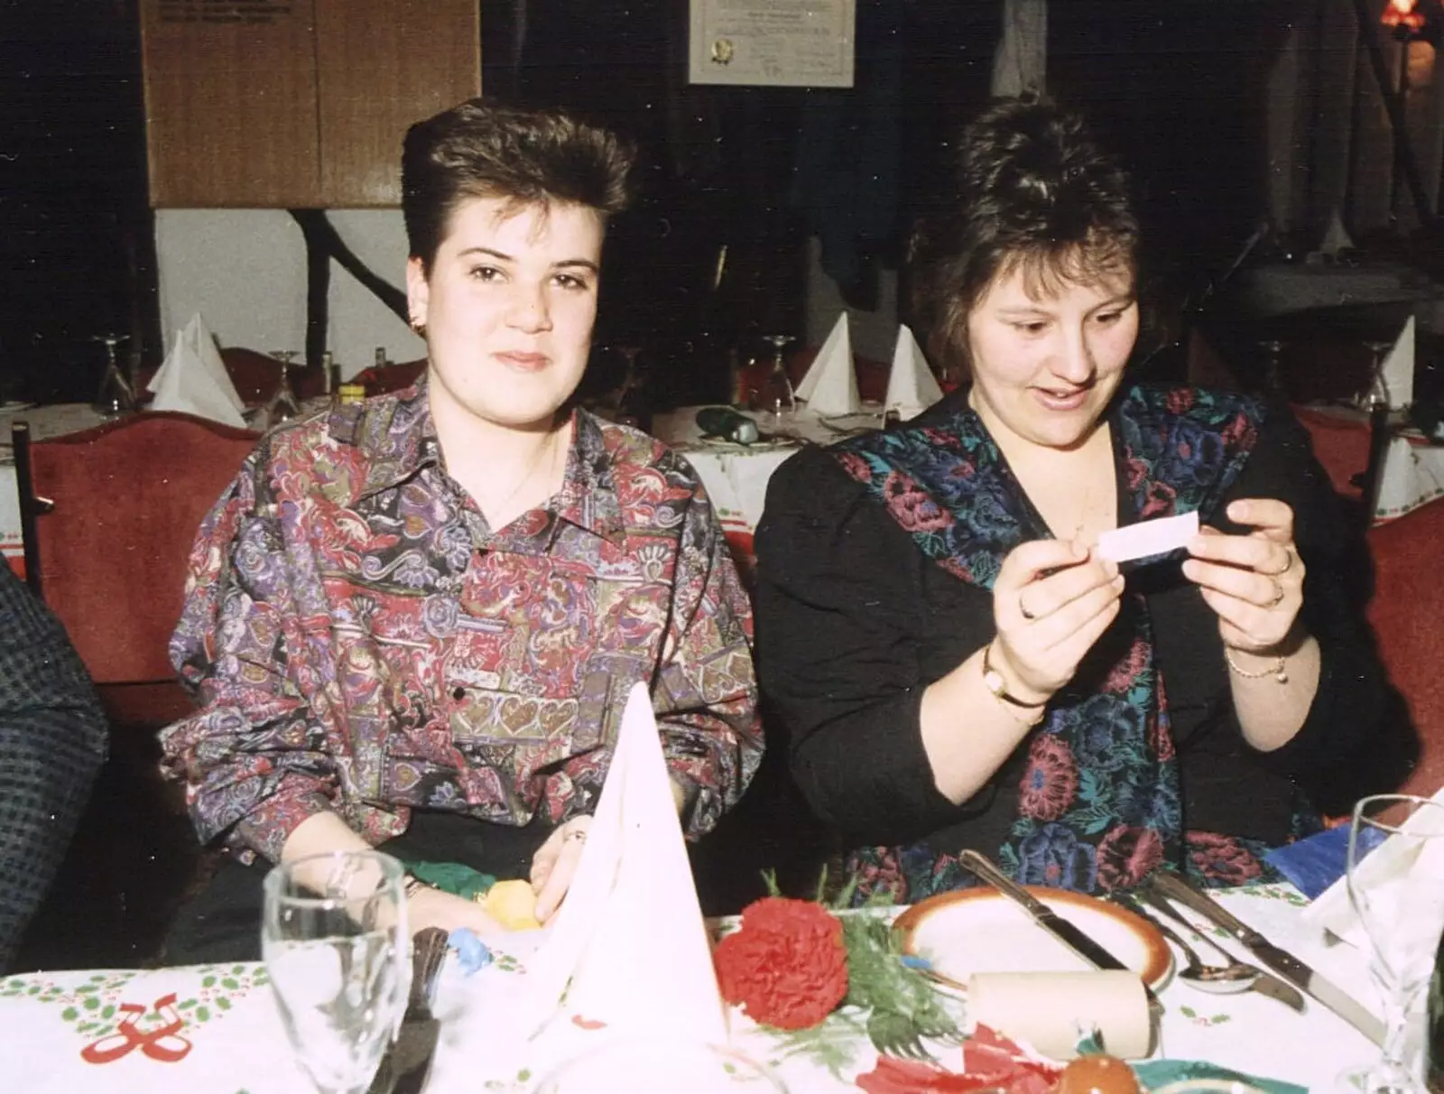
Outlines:
{"type": "Polygon", "coordinates": [[[313,0],[140,0],[150,204],[315,205],[313,0]]]}

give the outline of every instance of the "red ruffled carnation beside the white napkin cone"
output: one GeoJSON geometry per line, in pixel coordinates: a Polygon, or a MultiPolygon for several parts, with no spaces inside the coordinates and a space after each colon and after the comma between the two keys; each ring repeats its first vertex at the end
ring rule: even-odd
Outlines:
{"type": "Polygon", "coordinates": [[[722,997],[778,1029],[822,1022],[848,994],[842,922],[810,901],[765,896],[712,955],[722,997]]]}

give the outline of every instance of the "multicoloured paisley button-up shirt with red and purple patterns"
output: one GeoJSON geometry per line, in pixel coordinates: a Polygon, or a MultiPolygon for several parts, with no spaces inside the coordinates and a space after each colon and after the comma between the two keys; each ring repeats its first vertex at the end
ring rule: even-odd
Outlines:
{"type": "Polygon", "coordinates": [[[578,410],[562,489],[494,531],[423,381],[271,432],[212,508],[170,642],[201,709],[163,763],[247,862],[323,810],[371,843],[413,807],[560,823],[645,681],[699,836],[761,758],[751,629],[680,456],[578,410]]]}

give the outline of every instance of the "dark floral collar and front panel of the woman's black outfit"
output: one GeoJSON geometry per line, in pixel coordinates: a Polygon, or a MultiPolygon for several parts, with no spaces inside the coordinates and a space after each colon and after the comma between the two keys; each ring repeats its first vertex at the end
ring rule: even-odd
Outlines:
{"type": "MultiPolygon", "coordinates": [[[[1262,407],[1235,394],[1132,387],[1109,421],[1121,524],[1191,511],[1207,520],[1253,447],[1262,407]]],[[[924,556],[982,589],[992,589],[1011,550],[1050,534],[966,407],[943,424],[843,442],[833,455],[924,556]]],[[[1025,748],[1018,815],[1009,839],[992,849],[1015,879],[1097,892],[1136,885],[1164,865],[1229,883],[1259,876],[1255,854],[1238,840],[1184,833],[1167,694],[1141,593],[1125,590],[1118,619],[1025,748]]],[[[970,880],[954,857],[927,846],[862,849],[851,866],[859,899],[887,892],[915,901],[970,880]]]]}

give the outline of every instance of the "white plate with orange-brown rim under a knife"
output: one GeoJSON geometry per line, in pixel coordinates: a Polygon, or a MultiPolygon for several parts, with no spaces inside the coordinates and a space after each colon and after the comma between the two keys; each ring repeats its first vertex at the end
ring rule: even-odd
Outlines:
{"type": "MultiPolygon", "coordinates": [[[[1066,889],[1030,885],[1028,892],[1080,927],[1155,992],[1173,973],[1173,951],[1158,929],[1132,912],[1066,889]]],[[[973,973],[1069,973],[1092,968],[993,889],[957,889],[918,901],[897,918],[902,953],[923,957],[933,973],[967,987],[973,973]]]]}

